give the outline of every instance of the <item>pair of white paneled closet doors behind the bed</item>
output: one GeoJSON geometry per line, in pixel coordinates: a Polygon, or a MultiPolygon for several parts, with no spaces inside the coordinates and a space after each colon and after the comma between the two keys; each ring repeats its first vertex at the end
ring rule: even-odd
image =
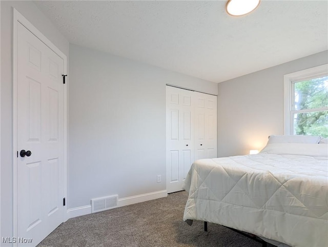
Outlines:
{"type": "Polygon", "coordinates": [[[196,159],[217,156],[216,96],[167,86],[167,191],[182,190],[196,159]]]}

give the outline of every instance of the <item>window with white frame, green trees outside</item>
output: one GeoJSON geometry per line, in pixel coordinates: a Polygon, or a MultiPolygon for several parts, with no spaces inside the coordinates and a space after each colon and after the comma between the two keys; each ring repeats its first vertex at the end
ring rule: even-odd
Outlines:
{"type": "Polygon", "coordinates": [[[284,134],[328,137],[328,65],[284,75],[284,134]]]}

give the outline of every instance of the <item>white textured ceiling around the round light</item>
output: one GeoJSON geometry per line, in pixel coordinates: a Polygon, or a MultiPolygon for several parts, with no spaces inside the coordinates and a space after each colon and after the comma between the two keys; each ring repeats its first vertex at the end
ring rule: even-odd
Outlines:
{"type": "Polygon", "coordinates": [[[70,43],[220,83],[327,50],[328,1],[35,1],[70,43]]]}

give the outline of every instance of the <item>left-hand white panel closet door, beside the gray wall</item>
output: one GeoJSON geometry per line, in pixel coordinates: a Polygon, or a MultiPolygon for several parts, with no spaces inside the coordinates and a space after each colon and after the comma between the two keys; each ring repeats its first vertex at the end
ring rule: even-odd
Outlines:
{"type": "Polygon", "coordinates": [[[167,191],[181,191],[194,160],[192,92],[167,86],[167,191]]]}

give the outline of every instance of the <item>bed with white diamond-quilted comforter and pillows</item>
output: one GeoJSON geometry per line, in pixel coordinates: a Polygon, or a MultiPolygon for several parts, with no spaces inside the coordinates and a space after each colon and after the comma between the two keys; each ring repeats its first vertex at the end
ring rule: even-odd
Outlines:
{"type": "Polygon", "coordinates": [[[328,246],[327,153],[320,137],[269,136],[259,154],[196,160],[185,180],[183,220],[275,245],[328,246]]]}

